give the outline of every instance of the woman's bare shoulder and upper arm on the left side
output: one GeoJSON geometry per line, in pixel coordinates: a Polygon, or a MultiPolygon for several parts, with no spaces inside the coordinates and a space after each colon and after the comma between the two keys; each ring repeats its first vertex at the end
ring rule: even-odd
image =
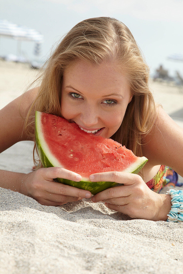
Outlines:
{"type": "Polygon", "coordinates": [[[0,110],[0,152],[16,142],[30,140],[24,131],[24,122],[38,89],[28,90],[0,110]]]}

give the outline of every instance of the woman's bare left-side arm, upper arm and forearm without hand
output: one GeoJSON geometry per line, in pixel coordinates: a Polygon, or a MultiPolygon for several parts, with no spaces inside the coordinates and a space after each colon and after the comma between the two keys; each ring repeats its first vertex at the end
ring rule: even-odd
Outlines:
{"type": "MultiPolygon", "coordinates": [[[[0,110],[0,153],[19,141],[29,140],[23,126],[37,91],[37,88],[27,91],[0,110]]],[[[0,187],[20,192],[23,175],[0,170],[0,187]]]]}

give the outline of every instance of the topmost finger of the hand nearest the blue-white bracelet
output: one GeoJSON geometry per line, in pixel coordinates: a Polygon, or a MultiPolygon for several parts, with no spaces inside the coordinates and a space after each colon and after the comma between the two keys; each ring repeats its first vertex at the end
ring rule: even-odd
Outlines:
{"type": "Polygon", "coordinates": [[[127,172],[118,172],[118,171],[91,174],[89,176],[89,179],[92,182],[105,181],[105,182],[116,182],[118,184],[125,184],[125,185],[132,185],[136,183],[137,181],[142,180],[142,178],[137,174],[127,173],[127,172]]]}

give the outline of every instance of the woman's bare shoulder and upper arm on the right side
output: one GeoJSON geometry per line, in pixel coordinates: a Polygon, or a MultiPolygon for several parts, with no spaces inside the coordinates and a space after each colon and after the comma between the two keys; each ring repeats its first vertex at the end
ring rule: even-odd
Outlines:
{"type": "MultiPolygon", "coordinates": [[[[153,165],[167,165],[183,172],[183,129],[162,109],[157,107],[157,118],[145,137],[143,153],[153,165]]],[[[179,173],[180,174],[180,173],[179,173]]]]}

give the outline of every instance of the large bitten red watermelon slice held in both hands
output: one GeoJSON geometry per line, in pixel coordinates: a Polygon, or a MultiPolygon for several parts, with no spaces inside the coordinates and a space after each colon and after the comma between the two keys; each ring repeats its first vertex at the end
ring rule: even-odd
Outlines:
{"type": "Polygon", "coordinates": [[[89,175],[108,171],[137,174],[148,161],[112,139],[86,133],[76,123],[38,111],[35,139],[43,167],[63,167],[82,176],[80,182],[57,178],[58,182],[89,190],[93,195],[118,184],[91,182],[89,175]]]}

